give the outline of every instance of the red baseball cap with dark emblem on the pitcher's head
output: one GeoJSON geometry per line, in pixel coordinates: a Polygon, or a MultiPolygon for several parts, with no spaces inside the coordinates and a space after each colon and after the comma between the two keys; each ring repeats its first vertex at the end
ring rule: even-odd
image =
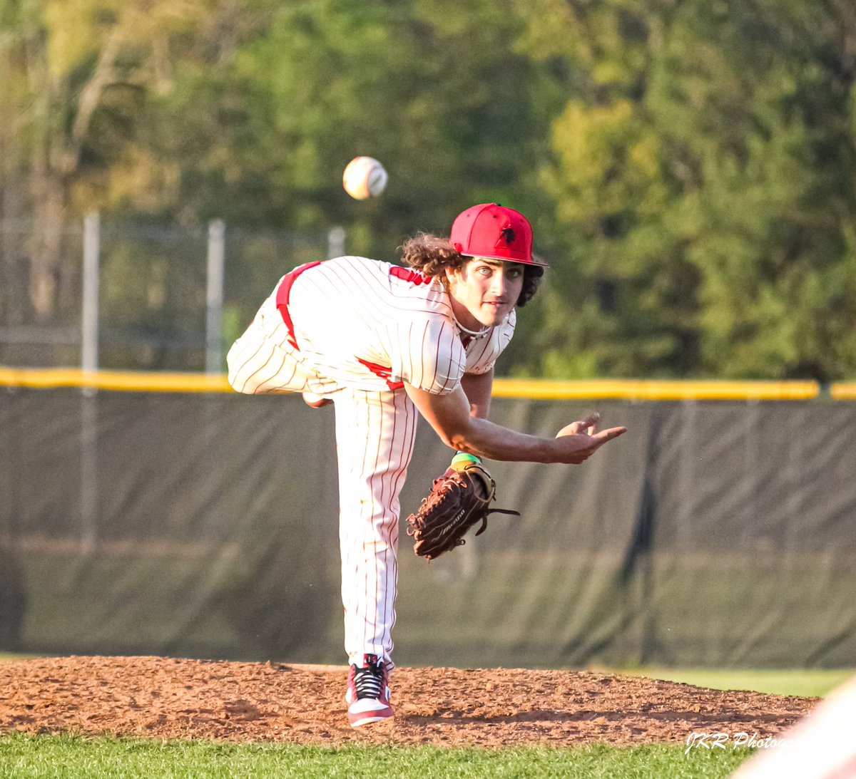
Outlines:
{"type": "Polygon", "coordinates": [[[532,259],[532,225],[526,216],[498,203],[474,205],[459,214],[449,242],[466,257],[549,267],[532,259]]]}

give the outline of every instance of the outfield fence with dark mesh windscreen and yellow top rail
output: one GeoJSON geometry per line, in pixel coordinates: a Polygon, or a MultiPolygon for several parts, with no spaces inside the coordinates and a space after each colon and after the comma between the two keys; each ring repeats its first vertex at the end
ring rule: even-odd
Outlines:
{"type": "MultiPolygon", "coordinates": [[[[490,463],[479,539],[402,533],[407,665],[852,667],[856,404],[814,382],[496,382],[492,416],[629,432],[490,463]]],[[[0,650],[337,663],[333,409],[222,375],[0,369],[0,650]]],[[[449,451],[420,422],[405,514],[449,451]]]]}

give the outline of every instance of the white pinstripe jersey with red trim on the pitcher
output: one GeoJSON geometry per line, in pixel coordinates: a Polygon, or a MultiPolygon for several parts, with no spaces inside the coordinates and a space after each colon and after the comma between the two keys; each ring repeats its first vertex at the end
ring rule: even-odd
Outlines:
{"type": "MultiPolygon", "coordinates": [[[[276,309],[276,289],[265,306],[276,309]]],[[[464,373],[493,367],[516,322],[512,311],[484,337],[469,338],[438,280],[366,257],[337,257],[306,269],[289,297],[301,359],[338,386],[367,391],[405,381],[425,392],[452,392],[464,373]]]]}

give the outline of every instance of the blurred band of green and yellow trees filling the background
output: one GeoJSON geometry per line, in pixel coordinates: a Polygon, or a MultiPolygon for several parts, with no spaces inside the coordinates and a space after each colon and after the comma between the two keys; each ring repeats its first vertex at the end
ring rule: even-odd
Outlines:
{"type": "MultiPolygon", "coordinates": [[[[849,0],[0,0],[0,64],[0,217],[35,226],[6,323],[68,307],[89,210],[395,260],[495,200],[552,264],[506,373],[856,374],[849,0]],[[342,191],[358,154],[382,198],[342,191]]],[[[282,254],[229,273],[260,300],[282,254]]]]}

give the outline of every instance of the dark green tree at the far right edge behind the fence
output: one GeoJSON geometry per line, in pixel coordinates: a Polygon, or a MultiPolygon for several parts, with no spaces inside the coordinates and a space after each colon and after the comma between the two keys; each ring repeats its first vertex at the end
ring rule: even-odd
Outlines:
{"type": "Polygon", "coordinates": [[[856,367],[842,360],[856,324],[854,21],[845,3],[698,3],[672,29],[652,97],[693,171],[680,223],[701,279],[699,372],[823,381],[856,367]]]}

